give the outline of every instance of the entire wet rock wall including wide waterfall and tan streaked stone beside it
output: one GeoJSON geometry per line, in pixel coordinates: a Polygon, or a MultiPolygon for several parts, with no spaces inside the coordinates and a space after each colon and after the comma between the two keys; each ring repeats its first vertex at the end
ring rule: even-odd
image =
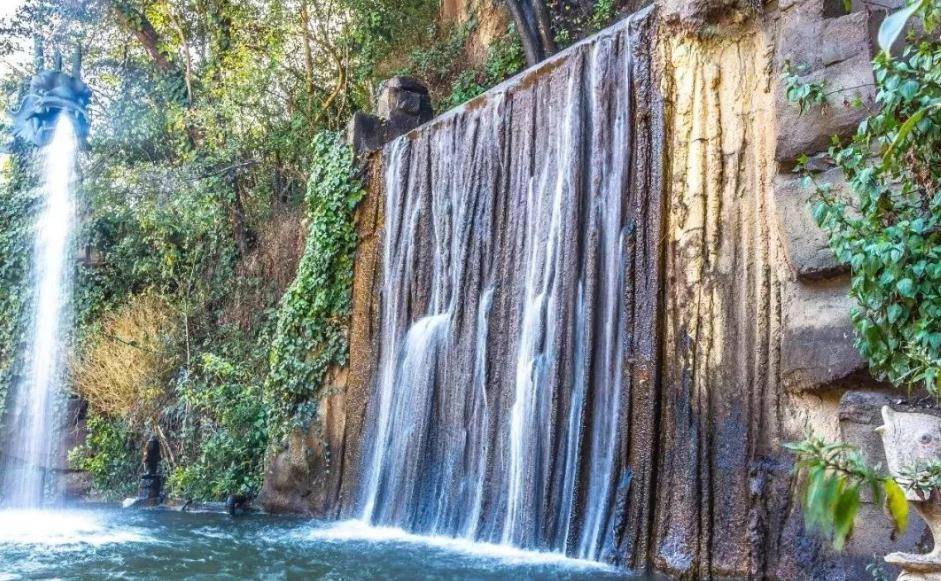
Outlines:
{"type": "Polygon", "coordinates": [[[272,464],[273,506],[686,577],[854,578],[884,552],[805,534],[781,447],[859,436],[833,394],[878,387],[790,172],[860,113],[795,117],[778,81],[785,58],[865,81],[869,17],[654,14],[373,156],[350,379],[272,464]]]}

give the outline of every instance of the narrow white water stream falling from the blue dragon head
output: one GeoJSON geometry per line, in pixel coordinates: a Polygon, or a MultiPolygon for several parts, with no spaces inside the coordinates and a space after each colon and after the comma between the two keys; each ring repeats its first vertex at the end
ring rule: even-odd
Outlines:
{"type": "Polygon", "coordinates": [[[54,463],[56,400],[63,375],[63,320],[71,299],[75,161],[78,141],[68,115],[60,115],[41,152],[42,204],[35,226],[29,335],[23,373],[7,414],[0,498],[5,506],[42,503],[44,479],[54,463]]]}

